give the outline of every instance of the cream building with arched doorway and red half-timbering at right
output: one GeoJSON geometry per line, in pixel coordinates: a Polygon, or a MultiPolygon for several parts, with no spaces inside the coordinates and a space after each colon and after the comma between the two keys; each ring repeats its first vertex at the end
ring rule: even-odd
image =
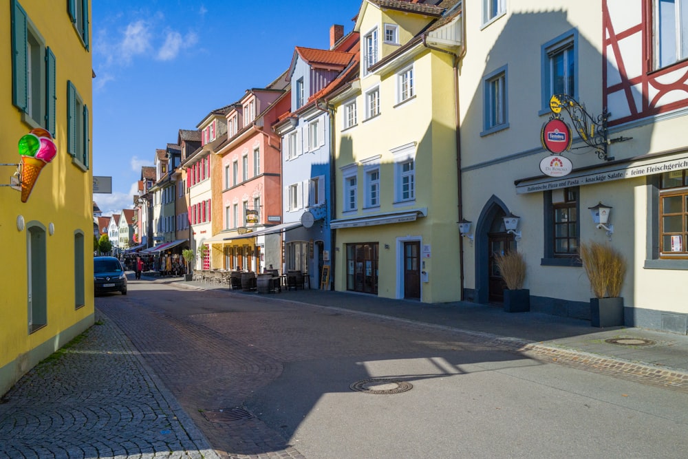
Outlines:
{"type": "Polygon", "coordinates": [[[466,298],[501,303],[493,254],[518,250],[530,310],[590,319],[579,247],[601,242],[627,262],[623,324],[685,334],[688,2],[481,0],[469,8],[459,94],[463,213],[472,222],[464,239],[473,238],[464,244],[466,298]],[[584,111],[561,112],[572,148],[561,153],[571,165],[559,176],[548,175],[554,156],[541,142],[557,135],[541,131],[554,116],[552,94],[590,115],[585,127],[573,120],[585,120],[584,111]],[[590,212],[600,202],[612,208],[606,228],[590,212]],[[510,214],[520,217],[515,233],[504,224],[510,214]]]}

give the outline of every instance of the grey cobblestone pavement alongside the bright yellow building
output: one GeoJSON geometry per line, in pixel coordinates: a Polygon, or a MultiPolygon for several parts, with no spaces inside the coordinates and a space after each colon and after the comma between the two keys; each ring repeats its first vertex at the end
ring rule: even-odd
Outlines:
{"type": "Polygon", "coordinates": [[[107,317],[0,403],[0,458],[213,458],[158,376],[107,317]]]}

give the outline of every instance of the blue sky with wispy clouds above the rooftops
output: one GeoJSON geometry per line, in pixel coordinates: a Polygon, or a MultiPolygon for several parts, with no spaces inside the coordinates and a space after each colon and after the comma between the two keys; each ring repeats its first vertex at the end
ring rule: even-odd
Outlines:
{"type": "Polygon", "coordinates": [[[263,87],[294,46],[327,49],[330,26],[351,32],[361,0],[96,0],[93,173],[112,177],[94,200],[105,215],[131,209],[142,166],[179,129],[263,87]]]}

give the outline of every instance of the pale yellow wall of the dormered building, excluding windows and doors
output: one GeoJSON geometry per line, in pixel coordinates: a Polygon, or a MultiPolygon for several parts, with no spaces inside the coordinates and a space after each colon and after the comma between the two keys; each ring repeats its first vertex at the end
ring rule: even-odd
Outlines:
{"type": "MultiPolygon", "coordinates": [[[[418,16],[385,13],[368,6],[360,21],[360,31],[365,34],[377,26],[379,33],[383,34],[383,24],[395,21],[400,25],[402,43],[408,41],[427,23],[427,19],[418,16]]],[[[380,43],[382,41],[380,38],[380,43]]],[[[398,47],[385,45],[380,57],[384,58],[387,53],[397,49],[398,47]]],[[[424,264],[421,270],[426,271],[429,277],[427,283],[421,282],[421,300],[432,303],[456,301],[460,298],[460,264],[456,225],[458,210],[453,60],[449,54],[431,51],[422,47],[422,44],[419,44],[416,51],[411,51],[411,54],[412,58],[402,56],[383,72],[361,76],[361,89],[336,101],[336,218],[370,217],[424,208],[427,208],[427,216],[419,217],[415,222],[338,229],[335,288],[347,288],[346,244],[378,242],[378,296],[402,298],[403,242],[417,240],[421,248],[429,246],[431,250],[431,256],[421,260],[424,264]],[[395,95],[398,90],[397,72],[408,65],[413,65],[415,98],[398,103],[395,95]],[[365,93],[374,87],[379,87],[380,91],[380,114],[366,120],[365,93]],[[358,112],[357,125],[342,131],[344,111],[341,107],[354,98],[358,112]],[[414,145],[416,200],[395,203],[395,163],[392,150],[405,145],[414,145]],[[380,206],[363,209],[365,160],[378,156],[380,206]],[[358,210],[343,213],[341,167],[354,162],[357,164],[358,210]],[[389,248],[385,248],[385,244],[389,248]]]]}

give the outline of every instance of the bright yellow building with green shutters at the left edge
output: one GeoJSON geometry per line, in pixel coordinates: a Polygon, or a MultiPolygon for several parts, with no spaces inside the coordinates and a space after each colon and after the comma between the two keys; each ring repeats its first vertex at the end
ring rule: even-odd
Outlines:
{"type": "Polygon", "coordinates": [[[28,198],[0,187],[0,394],[94,321],[89,2],[2,3],[0,184],[18,163],[23,184],[32,161],[43,168],[28,198]],[[35,158],[22,160],[32,129],[24,153],[35,158]]]}

